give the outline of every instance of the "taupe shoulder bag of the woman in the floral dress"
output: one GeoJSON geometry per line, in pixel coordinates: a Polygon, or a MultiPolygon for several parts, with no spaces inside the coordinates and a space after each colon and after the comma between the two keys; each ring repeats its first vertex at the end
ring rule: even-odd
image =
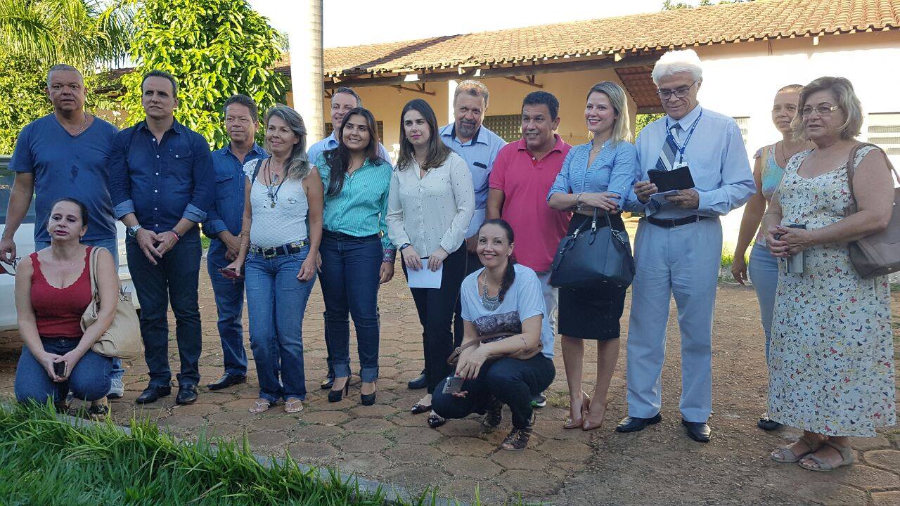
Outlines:
{"type": "MultiPolygon", "coordinates": [[[[865,146],[874,146],[882,155],[885,155],[887,168],[900,181],[900,175],[897,174],[896,168],[891,164],[891,160],[887,158],[887,154],[875,144],[860,143],[850,151],[850,159],[847,160],[847,184],[850,186],[850,193],[853,195],[853,161],[856,158],[857,151],[865,146]]],[[[850,216],[857,212],[858,205],[856,195],[853,195],[853,201],[844,208],[844,216],[850,216]]],[[[894,206],[891,212],[891,220],[887,224],[887,229],[878,233],[866,236],[862,239],[850,243],[850,261],[856,272],[864,278],[887,276],[892,272],[900,270],[900,188],[894,189],[894,206]]]]}

